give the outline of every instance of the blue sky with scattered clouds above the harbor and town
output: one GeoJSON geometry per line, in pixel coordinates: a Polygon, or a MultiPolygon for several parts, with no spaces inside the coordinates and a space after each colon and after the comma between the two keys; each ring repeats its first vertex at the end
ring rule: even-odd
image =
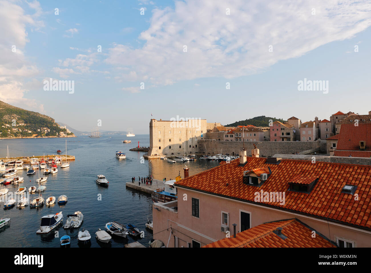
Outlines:
{"type": "Polygon", "coordinates": [[[136,134],[151,118],[368,114],[370,25],[362,0],[0,0],[0,100],[136,134]]]}

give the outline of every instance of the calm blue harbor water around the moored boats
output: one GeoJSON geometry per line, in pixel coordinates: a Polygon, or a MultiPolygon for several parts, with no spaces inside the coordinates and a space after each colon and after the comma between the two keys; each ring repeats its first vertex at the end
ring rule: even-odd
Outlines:
{"type": "MultiPolygon", "coordinates": [[[[139,135],[131,137],[132,143],[124,144],[121,140],[126,136],[103,136],[100,139],[89,137],[74,137],[67,139],[68,155],[74,155],[75,161],[70,161],[69,168],[58,168],[58,173],[49,174],[46,191],[42,193],[46,199],[48,196],[65,194],[68,202],[64,206],[55,204],[47,208],[33,208],[29,206],[23,209],[13,207],[3,210],[1,204],[0,218],[11,218],[11,225],[0,229],[1,247],[59,247],[59,238],[55,238],[54,231],[59,231],[59,237],[65,234],[71,237],[71,247],[78,247],[77,234],[82,228],[88,230],[92,235],[91,246],[106,246],[95,239],[95,231],[98,228],[105,229],[108,221],[117,221],[122,224],[132,223],[140,230],[145,231],[145,238],[137,240],[144,246],[152,238],[150,230],[145,228],[147,216],[152,215],[152,201],[149,194],[140,193],[135,190],[126,189],[125,183],[131,182],[135,176],[148,175],[149,169],[156,179],[166,177],[167,180],[175,178],[180,171],[183,177],[184,163],[168,163],[166,160],[152,160],[148,166],[148,160],[141,160],[144,152],[131,152],[129,149],[138,145],[149,146],[149,136],[139,135]],[[116,159],[115,152],[122,150],[126,153],[126,159],[116,159]],[[95,183],[96,176],[103,174],[109,181],[108,188],[103,188],[95,183]],[[101,194],[102,200],[98,201],[101,194]],[[55,214],[62,211],[63,221],[67,214],[81,211],[84,215],[83,224],[80,229],[64,230],[62,225],[54,229],[50,234],[36,235],[39,229],[40,218],[47,214],[55,214]]],[[[45,153],[55,154],[57,149],[64,152],[65,139],[13,139],[0,141],[0,157],[6,157],[7,145],[9,145],[10,157],[15,156],[40,156],[45,153]]],[[[190,175],[202,172],[218,165],[218,162],[197,160],[187,162],[190,175]]],[[[9,192],[16,192],[18,187],[30,187],[34,185],[37,174],[27,176],[26,170],[18,171],[17,176],[24,177],[24,183],[19,185],[7,185],[9,192]],[[31,181],[30,181],[31,180],[31,181]]],[[[3,186],[3,185],[1,185],[3,186]]],[[[33,194],[30,199],[35,198],[33,194]]],[[[112,237],[112,247],[123,247],[125,243],[134,241],[128,236],[126,239],[112,237]]],[[[111,246],[110,244],[108,246],[111,246]]]]}

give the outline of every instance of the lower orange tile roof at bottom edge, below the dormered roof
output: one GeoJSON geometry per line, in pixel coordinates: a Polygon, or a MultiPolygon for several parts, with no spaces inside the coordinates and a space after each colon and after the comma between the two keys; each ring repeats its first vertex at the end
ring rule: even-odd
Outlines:
{"type": "Polygon", "coordinates": [[[312,228],[291,219],[265,223],[239,232],[236,238],[224,238],[204,247],[336,247],[327,238],[316,232],[312,238],[312,228]],[[280,238],[273,231],[282,228],[287,238],[280,238]]]}

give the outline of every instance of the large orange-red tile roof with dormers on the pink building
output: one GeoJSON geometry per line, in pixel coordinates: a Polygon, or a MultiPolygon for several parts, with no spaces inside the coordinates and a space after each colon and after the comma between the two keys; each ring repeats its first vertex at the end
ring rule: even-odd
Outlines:
{"type": "Polygon", "coordinates": [[[257,191],[285,192],[285,204],[280,205],[277,201],[264,202],[264,205],[371,230],[371,166],[288,159],[271,164],[266,160],[247,157],[243,166],[240,166],[239,159],[232,160],[175,184],[254,204],[257,191]],[[259,188],[243,183],[243,171],[268,166],[272,173],[259,188]],[[309,194],[288,191],[288,182],[297,175],[319,178],[309,194]],[[346,184],[357,186],[355,194],[358,194],[359,201],[354,200],[351,194],[341,192],[346,184]]]}

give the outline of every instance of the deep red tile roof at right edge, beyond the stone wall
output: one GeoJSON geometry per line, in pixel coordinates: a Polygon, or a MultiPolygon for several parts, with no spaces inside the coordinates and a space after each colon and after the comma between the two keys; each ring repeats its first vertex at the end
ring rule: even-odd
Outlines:
{"type": "Polygon", "coordinates": [[[366,150],[371,151],[371,123],[354,126],[343,124],[340,127],[339,141],[336,150],[359,151],[359,142],[366,142],[366,150]]]}

